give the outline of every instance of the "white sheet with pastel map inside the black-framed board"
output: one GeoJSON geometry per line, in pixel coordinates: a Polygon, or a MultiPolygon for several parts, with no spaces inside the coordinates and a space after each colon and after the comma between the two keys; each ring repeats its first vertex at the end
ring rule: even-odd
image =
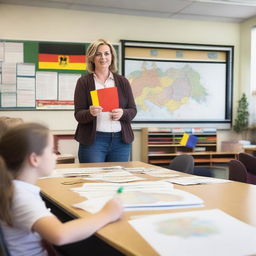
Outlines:
{"type": "Polygon", "coordinates": [[[223,118],[224,104],[216,107],[216,101],[225,102],[222,64],[136,60],[127,63],[125,75],[132,86],[137,119],[209,119],[209,113],[212,119],[223,118]],[[189,111],[195,116],[190,116],[189,111]]]}

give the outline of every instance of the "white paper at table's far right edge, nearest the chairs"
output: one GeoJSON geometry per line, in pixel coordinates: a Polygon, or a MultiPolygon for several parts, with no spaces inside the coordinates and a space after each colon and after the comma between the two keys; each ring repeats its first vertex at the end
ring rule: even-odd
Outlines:
{"type": "Polygon", "coordinates": [[[196,184],[214,184],[214,183],[227,183],[231,182],[230,180],[225,179],[217,179],[217,178],[208,178],[202,176],[186,176],[179,177],[174,179],[168,179],[165,181],[169,181],[171,183],[179,184],[179,185],[196,185],[196,184]]]}

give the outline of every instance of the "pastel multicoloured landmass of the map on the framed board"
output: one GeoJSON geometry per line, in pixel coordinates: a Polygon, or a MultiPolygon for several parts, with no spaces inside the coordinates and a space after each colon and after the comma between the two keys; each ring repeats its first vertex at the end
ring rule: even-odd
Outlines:
{"type": "Polygon", "coordinates": [[[156,105],[163,104],[170,111],[186,104],[190,97],[199,103],[206,100],[207,92],[200,83],[200,75],[189,65],[162,71],[154,62],[147,69],[144,62],[141,70],[132,72],[128,79],[133,85],[136,102],[144,110],[147,109],[145,99],[156,105]]]}

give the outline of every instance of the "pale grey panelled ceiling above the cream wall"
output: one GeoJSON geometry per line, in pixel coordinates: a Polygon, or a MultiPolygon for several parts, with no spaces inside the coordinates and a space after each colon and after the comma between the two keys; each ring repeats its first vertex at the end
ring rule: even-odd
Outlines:
{"type": "Polygon", "coordinates": [[[256,0],[0,0],[0,3],[224,22],[242,22],[256,16],[256,0]]]}

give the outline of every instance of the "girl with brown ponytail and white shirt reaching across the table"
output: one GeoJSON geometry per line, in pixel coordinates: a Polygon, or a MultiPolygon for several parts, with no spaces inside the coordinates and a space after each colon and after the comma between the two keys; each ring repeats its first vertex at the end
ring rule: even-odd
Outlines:
{"type": "Polygon", "coordinates": [[[11,255],[48,255],[42,239],[54,245],[76,242],[122,215],[121,202],[113,198],[94,215],[61,223],[35,185],[55,161],[53,137],[43,125],[21,124],[0,138],[0,223],[11,255]]]}

